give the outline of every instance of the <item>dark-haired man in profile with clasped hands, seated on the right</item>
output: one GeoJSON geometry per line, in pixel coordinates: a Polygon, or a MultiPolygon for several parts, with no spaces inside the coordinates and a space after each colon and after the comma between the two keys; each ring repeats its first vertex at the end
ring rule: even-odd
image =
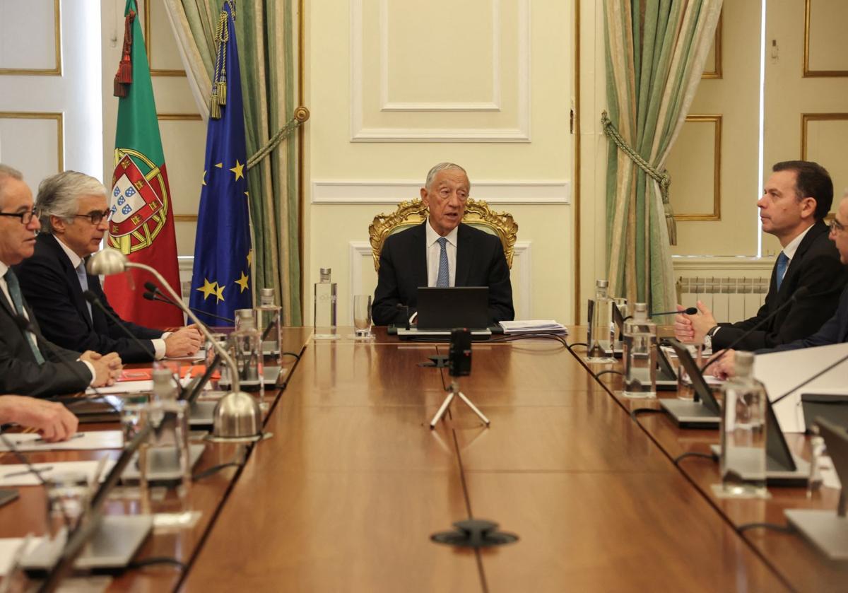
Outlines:
{"type": "Polygon", "coordinates": [[[786,304],[799,288],[809,293],[796,299],[736,347],[761,350],[806,338],[834,314],[845,286],[845,266],[839,251],[828,241],[824,217],[833,203],[834,186],[821,165],[789,160],[773,166],[760,208],[762,230],[773,234],[783,250],[772,271],[766,302],[756,316],[736,323],[717,323],[711,311],[698,303],[696,315],[678,315],[675,336],[684,342],[727,348],[786,304]]]}

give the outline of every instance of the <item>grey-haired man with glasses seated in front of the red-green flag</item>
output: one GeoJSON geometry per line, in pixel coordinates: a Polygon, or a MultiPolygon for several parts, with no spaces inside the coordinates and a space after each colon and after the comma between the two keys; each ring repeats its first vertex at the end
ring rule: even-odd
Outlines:
{"type": "Polygon", "coordinates": [[[103,294],[100,279],[86,272],[86,258],[100,249],[109,227],[107,195],[103,183],[76,171],[47,177],[38,187],[36,210],[42,233],[36,239],[35,255],[16,271],[44,335],[73,350],[117,352],[125,362],[195,354],[202,344],[196,327],[163,333],[120,320],[103,294]],[[86,301],[86,290],[138,341],[86,301]]]}

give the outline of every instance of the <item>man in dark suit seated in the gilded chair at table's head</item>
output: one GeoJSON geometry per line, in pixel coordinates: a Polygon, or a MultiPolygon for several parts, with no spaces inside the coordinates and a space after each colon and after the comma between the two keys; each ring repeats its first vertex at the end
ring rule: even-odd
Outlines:
{"type": "Polygon", "coordinates": [[[416,313],[418,287],[488,286],[490,322],[510,320],[510,269],[499,238],[462,224],[471,183],[460,165],[440,163],[427,174],[421,225],[383,243],[371,314],[375,325],[405,323],[416,313]],[[403,308],[399,308],[401,305],[403,308]]]}

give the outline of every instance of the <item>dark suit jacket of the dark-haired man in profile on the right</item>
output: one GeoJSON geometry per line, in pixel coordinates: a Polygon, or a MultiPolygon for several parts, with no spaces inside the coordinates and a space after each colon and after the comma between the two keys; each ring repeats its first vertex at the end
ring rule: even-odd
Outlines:
{"type": "Polygon", "coordinates": [[[775,265],[766,302],[756,316],[744,322],[720,323],[722,329],[712,338],[713,350],[727,348],[743,333],[784,305],[802,286],[810,290],[806,297],[780,311],[764,327],[752,332],[735,347],[739,350],[761,350],[806,338],[834,314],[846,279],[848,274],[845,266],[840,263],[840,253],[833,241],[828,239],[828,226],[818,221],[801,239],[795,256],[789,262],[789,269],[784,274],[780,290],[775,265]]]}

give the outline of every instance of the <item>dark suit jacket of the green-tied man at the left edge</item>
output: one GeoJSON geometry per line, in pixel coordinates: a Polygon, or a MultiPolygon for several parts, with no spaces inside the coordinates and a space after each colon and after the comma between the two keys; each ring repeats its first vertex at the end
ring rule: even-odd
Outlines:
{"type": "MultiPolygon", "coordinates": [[[[36,316],[24,299],[24,308],[30,322],[39,331],[36,316]]],[[[76,361],[79,352],[64,350],[55,344],[37,338],[45,362],[39,365],[36,356],[20,328],[17,312],[0,291],[0,394],[21,394],[44,397],[55,394],[72,394],[86,389],[92,373],[84,362],[76,361]],[[60,362],[64,360],[65,362],[60,362]]]]}

